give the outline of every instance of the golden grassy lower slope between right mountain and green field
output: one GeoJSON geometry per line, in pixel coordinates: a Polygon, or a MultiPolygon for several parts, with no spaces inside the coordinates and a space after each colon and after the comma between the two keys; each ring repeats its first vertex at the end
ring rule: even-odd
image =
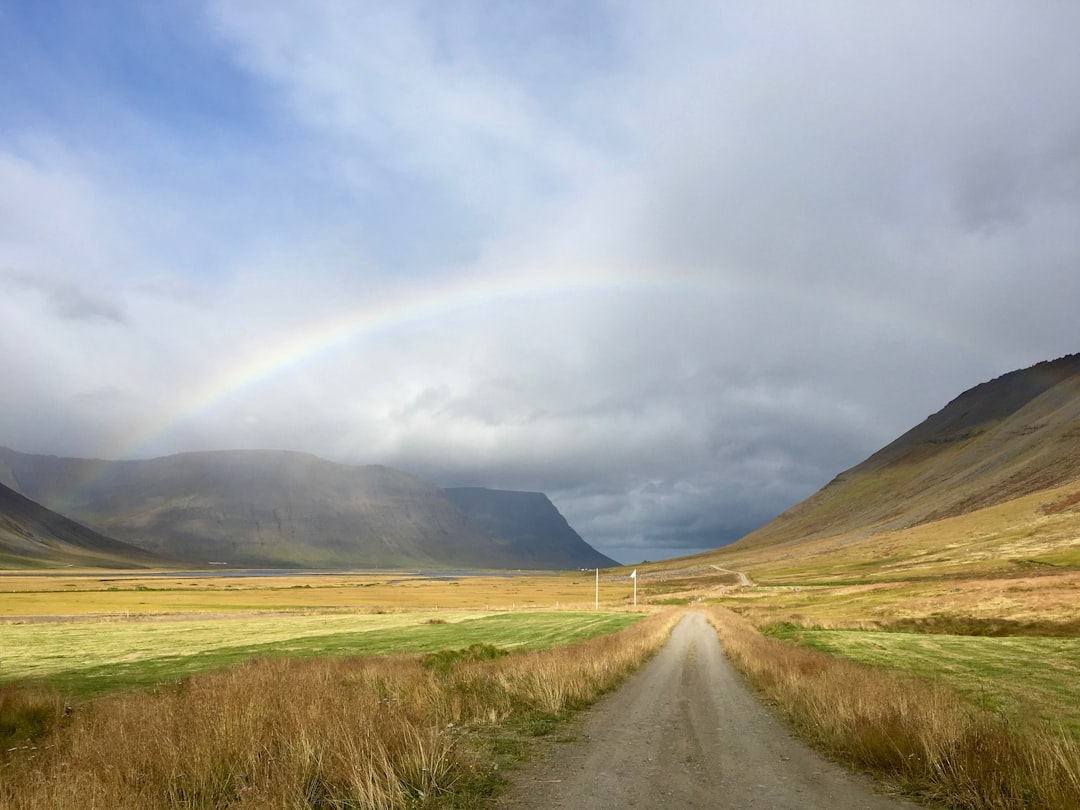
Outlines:
{"type": "MultiPolygon", "coordinates": [[[[1080,489],[1077,484],[904,530],[765,546],[721,548],[643,566],[646,600],[675,594],[729,605],[762,624],[891,627],[915,619],[1080,626],[1080,489]],[[673,570],[673,565],[678,568],[673,570]],[[754,586],[715,581],[750,575],[754,586]]],[[[1053,625],[1053,626],[1052,626],[1053,625]]]]}

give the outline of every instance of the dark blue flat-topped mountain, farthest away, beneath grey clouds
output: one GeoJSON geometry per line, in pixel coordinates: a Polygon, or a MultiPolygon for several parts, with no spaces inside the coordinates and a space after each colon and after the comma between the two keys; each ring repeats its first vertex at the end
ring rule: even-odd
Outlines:
{"type": "Polygon", "coordinates": [[[518,553],[537,565],[550,559],[559,561],[559,568],[619,565],[586,543],[543,492],[483,487],[455,487],[443,491],[491,538],[510,541],[518,553]]]}

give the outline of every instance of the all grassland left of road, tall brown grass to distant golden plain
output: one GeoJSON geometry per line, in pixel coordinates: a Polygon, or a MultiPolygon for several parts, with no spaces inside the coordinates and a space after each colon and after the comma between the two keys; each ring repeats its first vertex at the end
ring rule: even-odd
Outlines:
{"type": "Polygon", "coordinates": [[[0,809],[478,807],[677,618],[594,589],[0,576],[0,809]]]}

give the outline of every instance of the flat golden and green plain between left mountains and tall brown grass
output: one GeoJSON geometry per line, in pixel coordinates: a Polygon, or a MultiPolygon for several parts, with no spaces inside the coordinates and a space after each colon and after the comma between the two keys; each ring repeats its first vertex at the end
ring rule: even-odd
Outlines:
{"type": "MultiPolygon", "coordinates": [[[[626,592],[623,582],[602,582],[608,600],[624,602],[619,597],[626,592]]],[[[90,694],[267,657],[430,652],[471,644],[539,649],[639,618],[595,612],[590,599],[595,580],[583,575],[5,575],[0,683],[42,681],[90,694]]]]}

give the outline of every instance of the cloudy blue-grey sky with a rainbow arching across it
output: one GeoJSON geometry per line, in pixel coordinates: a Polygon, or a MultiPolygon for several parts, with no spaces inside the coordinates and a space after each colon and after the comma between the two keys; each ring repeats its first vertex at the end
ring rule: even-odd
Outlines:
{"type": "Polygon", "coordinates": [[[1080,351],[1080,4],[4,0],[0,445],[738,539],[1080,351]]]}

